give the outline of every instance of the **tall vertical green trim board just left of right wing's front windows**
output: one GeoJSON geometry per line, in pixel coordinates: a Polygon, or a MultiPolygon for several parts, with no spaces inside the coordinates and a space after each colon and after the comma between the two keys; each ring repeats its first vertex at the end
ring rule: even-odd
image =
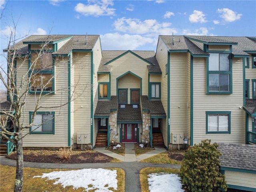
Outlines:
{"type": "Polygon", "coordinates": [[[194,58],[190,55],[190,146],[193,146],[193,126],[194,126],[194,85],[193,85],[193,64],[194,58]]]}

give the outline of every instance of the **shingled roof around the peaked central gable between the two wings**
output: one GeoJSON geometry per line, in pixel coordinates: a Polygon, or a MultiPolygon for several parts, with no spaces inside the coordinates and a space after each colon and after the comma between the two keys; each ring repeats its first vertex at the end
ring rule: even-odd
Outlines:
{"type": "MultiPolygon", "coordinates": [[[[118,56],[126,53],[128,51],[102,51],[102,59],[100,61],[100,66],[98,69],[98,72],[110,72],[111,71],[111,64],[104,65],[107,62],[110,62],[111,60],[114,60],[118,56]]],[[[154,72],[154,73],[161,73],[161,69],[159,67],[159,64],[155,57],[154,51],[131,51],[144,60],[150,62],[152,65],[148,64],[148,72],[154,72]]]]}

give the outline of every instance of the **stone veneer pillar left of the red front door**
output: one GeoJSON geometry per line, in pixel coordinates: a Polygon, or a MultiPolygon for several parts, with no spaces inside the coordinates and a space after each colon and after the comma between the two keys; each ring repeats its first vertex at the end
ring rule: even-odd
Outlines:
{"type": "Polygon", "coordinates": [[[110,112],[109,117],[109,125],[110,125],[110,143],[112,141],[119,143],[119,134],[117,129],[117,111],[110,112]]]}

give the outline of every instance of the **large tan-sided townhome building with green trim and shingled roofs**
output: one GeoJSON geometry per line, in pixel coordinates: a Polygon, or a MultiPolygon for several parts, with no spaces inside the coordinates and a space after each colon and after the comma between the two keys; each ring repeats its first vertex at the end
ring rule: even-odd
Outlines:
{"type": "Polygon", "coordinates": [[[160,35],[156,51],[108,51],[99,35],[32,35],[15,47],[17,86],[36,72],[24,147],[256,144],[256,37],[160,35]]]}

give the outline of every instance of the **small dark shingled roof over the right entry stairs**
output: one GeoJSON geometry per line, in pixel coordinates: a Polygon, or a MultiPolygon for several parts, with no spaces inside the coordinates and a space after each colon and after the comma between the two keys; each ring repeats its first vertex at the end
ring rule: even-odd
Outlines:
{"type": "Polygon", "coordinates": [[[166,117],[161,100],[148,100],[148,96],[141,96],[142,110],[149,110],[151,116],[166,117]]]}

